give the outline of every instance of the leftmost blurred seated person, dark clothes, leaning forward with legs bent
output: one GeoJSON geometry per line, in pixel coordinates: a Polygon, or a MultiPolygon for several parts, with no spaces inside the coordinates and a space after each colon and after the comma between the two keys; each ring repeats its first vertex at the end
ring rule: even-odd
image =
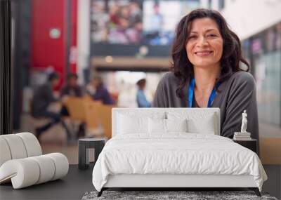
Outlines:
{"type": "Polygon", "coordinates": [[[53,72],[52,74],[49,74],[46,84],[39,86],[37,90],[34,91],[32,100],[32,116],[34,116],[34,118],[44,117],[51,119],[50,123],[36,128],[36,136],[38,139],[40,138],[41,134],[44,133],[44,131],[47,131],[48,128],[51,128],[51,126],[60,122],[65,128],[67,136],[69,135],[67,126],[65,126],[65,123],[60,119],[60,114],[48,110],[48,107],[51,105],[51,103],[59,101],[59,99],[55,98],[53,95],[53,88],[58,86],[59,82],[60,76],[53,72]]]}

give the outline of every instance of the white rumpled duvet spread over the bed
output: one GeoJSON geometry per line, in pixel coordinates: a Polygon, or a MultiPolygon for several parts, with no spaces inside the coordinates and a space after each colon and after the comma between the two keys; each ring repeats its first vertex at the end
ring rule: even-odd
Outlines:
{"type": "Polygon", "coordinates": [[[267,180],[251,150],[229,138],[190,133],[115,136],[93,168],[94,187],[100,191],[116,174],[253,175],[260,191],[267,180]]]}

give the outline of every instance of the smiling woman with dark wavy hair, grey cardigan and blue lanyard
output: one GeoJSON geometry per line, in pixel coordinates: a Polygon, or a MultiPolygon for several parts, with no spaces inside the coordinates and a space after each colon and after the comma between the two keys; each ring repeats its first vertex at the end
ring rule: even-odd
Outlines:
{"type": "Polygon", "coordinates": [[[247,131],[259,139],[255,81],[242,58],[240,39],[220,13],[197,9],[185,15],[171,54],[171,72],[159,81],[152,107],[219,107],[221,135],[228,138],[240,131],[246,109],[247,131]]]}

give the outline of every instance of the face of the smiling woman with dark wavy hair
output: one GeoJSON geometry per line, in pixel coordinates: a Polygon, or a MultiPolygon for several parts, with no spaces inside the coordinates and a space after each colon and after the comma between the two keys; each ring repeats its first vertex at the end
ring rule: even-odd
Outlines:
{"type": "Polygon", "coordinates": [[[223,38],[218,25],[210,18],[195,19],[190,26],[185,49],[195,67],[220,65],[223,55],[223,38]]]}

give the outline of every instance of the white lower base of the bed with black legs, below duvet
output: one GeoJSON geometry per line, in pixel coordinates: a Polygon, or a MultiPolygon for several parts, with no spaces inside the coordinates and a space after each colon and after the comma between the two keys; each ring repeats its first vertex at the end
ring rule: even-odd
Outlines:
{"type": "Polygon", "coordinates": [[[110,175],[98,196],[109,188],[163,188],[166,190],[185,188],[237,188],[246,187],[261,196],[252,175],[110,175]]]}

